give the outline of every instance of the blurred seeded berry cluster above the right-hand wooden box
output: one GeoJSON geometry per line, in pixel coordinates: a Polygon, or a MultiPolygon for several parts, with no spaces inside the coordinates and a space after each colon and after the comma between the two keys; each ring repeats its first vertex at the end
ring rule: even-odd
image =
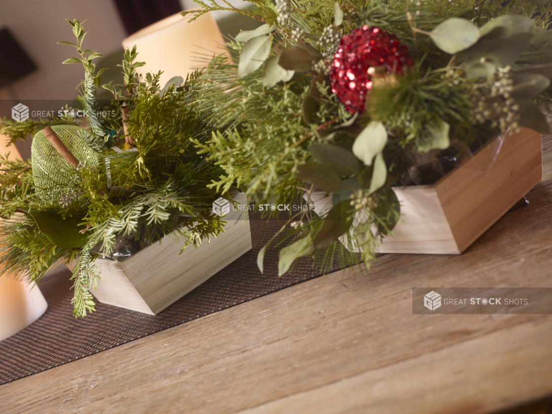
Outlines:
{"type": "Polygon", "coordinates": [[[471,93],[471,116],[474,123],[491,122],[491,128],[500,128],[501,132],[519,132],[519,105],[511,97],[513,79],[511,67],[499,67],[498,73],[487,77],[483,83],[474,84],[471,93]]]}

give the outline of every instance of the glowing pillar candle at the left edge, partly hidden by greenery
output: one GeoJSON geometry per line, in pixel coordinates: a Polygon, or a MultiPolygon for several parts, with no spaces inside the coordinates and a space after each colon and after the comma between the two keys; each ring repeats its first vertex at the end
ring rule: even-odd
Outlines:
{"type": "MultiPolygon", "coordinates": [[[[9,160],[21,158],[14,145],[6,148],[8,140],[0,134],[0,153],[9,152],[9,160]]],[[[46,312],[48,304],[44,296],[38,286],[32,287],[33,284],[26,285],[12,275],[0,274],[0,341],[28,327],[46,312]]]]}

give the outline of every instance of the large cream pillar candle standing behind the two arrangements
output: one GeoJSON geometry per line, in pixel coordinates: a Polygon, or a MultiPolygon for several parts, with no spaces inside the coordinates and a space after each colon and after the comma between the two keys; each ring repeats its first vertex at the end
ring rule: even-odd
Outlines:
{"type": "Polygon", "coordinates": [[[125,50],[136,45],[137,60],[146,62],[137,69],[142,76],[164,71],[159,82],[163,87],[173,76],[185,79],[196,68],[206,66],[214,54],[224,51],[224,39],[211,13],[192,23],[188,23],[189,19],[189,15],[173,14],[123,40],[125,50]]]}

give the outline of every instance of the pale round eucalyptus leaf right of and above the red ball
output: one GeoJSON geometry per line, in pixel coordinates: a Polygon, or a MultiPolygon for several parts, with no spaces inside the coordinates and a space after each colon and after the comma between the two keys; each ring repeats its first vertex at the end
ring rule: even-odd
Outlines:
{"type": "Polygon", "coordinates": [[[468,49],[479,40],[479,28],[469,20],[452,17],[437,25],[429,33],[433,43],[450,55],[468,49]]]}

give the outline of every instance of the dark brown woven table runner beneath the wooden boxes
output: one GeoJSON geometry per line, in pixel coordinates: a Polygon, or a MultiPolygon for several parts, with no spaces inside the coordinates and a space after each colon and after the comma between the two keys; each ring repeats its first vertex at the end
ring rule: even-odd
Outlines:
{"type": "MultiPolygon", "coordinates": [[[[174,302],[157,316],[98,303],[87,317],[72,316],[70,272],[45,277],[39,283],[48,310],[38,321],[0,342],[0,384],[87,357],[151,333],[211,314],[305,280],[320,272],[302,259],[283,278],[278,277],[278,253],[269,250],[264,273],[257,253],[282,226],[279,220],[251,220],[253,248],[207,282],[174,302]]],[[[337,270],[337,265],[334,270],[337,270]]]]}

